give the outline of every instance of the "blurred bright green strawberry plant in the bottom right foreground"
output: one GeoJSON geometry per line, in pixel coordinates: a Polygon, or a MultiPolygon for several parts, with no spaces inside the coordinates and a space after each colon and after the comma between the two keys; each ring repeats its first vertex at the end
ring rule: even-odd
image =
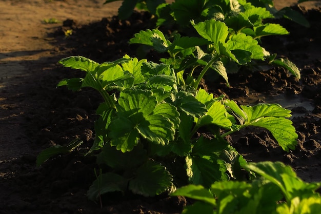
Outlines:
{"type": "Polygon", "coordinates": [[[306,183],[296,177],[289,166],[280,162],[259,162],[243,165],[261,177],[250,182],[219,181],[209,188],[188,185],[172,196],[196,200],[183,213],[196,214],[309,214],[321,209],[321,196],[315,190],[321,183],[306,183]]]}

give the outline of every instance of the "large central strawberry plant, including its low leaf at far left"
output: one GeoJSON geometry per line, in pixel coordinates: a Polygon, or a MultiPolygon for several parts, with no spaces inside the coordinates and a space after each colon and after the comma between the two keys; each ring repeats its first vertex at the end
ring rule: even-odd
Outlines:
{"type": "MultiPolygon", "coordinates": [[[[102,64],[82,56],[59,63],[86,75],[58,86],[74,91],[91,87],[104,99],[86,153],[95,155],[104,169],[88,190],[91,200],[114,191],[154,196],[176,186],[209,188],[216,181],[242,180],[240,166],[246,161],[224,137],[248,126],[268,129],[285,151],[295,148],[290,110],[277,104],[238,106],[204,89],[182,87],[170,65],[127,55],[102,64]],[[199,135],[202,130],[209,135],[199,135]]],[[[37,165],[81,143],[45,149],[37,165]]]]}

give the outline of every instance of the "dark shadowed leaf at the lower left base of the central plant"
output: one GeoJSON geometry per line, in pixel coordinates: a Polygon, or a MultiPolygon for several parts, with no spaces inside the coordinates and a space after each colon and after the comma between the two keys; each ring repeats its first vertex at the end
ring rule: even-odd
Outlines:
{"type": "Polygon", "coordinates": [[[107,172],[99,174],[87,191],[87,197],[96,201],[102,194],[114,191],[126,191],[128,180],[118,174],[107,172]]]}

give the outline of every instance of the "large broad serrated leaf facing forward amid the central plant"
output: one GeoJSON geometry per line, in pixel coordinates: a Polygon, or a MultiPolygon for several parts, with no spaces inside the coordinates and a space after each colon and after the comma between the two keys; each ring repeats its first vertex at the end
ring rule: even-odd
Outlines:
{"type": "Polygon", "coordinates": [[[179,121],[177,109],[170,104],[157,104],[151,91],[122,91],[118,104],[117,116],[109,128],[112,146],[125,152],[137,145],[140,136],[162,145],[174,139],[174,127],[179,121]]]}

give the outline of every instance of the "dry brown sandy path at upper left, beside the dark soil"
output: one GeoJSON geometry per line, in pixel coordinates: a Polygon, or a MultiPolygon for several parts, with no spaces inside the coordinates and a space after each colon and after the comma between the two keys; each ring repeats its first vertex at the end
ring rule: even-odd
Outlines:
{"type": "Polygon", "coordinates": [[[28,84],[26,76],[39,71],[33,70],[35,64],[41,62],[36,66],[40,70],[50,66],[56,47],[48,34],[62,25],[44,24],[43,21],[72,19],[86,24],[116,15],[121,3],[103,5],[104,2],[0,1],[0,164],[30,151],[30,140],[24,135],[22,124],[23,114],[32,100],[24,97],[21,85],[28,84]]]}

